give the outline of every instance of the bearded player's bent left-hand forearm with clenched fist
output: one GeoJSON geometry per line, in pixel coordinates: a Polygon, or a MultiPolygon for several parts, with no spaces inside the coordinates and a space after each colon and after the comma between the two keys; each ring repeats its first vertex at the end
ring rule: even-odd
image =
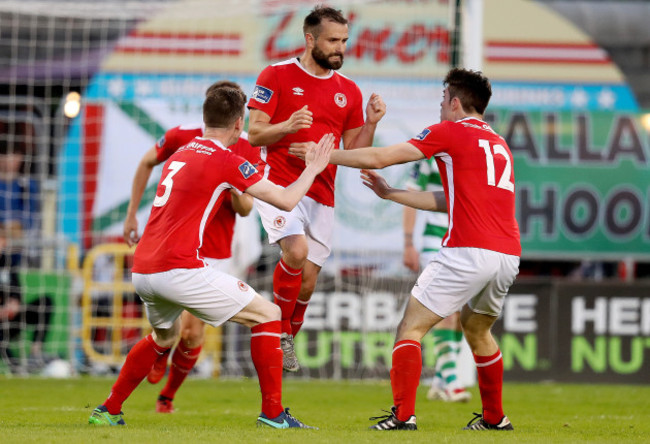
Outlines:
{"type": "Polygon", "coordinates": [[[311,127],[313,122],[313,114],[307,105],[295,111],[284,122],[275,124],[271,123],[271,116],[264,111],[251,109],[248,117],[248,141],[253,146],[270,145],[287,134],[311,127]]]}

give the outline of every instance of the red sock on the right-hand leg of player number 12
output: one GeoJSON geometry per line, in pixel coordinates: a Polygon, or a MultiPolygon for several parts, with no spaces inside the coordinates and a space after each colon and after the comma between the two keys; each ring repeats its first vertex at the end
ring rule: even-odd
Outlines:
{"type": "Polygon", "coordinates": [[[474,355],[478,371],[478,388],[483,403],[483,419],[498,424],[503,418],[501,393],[503,389],[503,358],[501,350],[492,356],[474,355]]]}

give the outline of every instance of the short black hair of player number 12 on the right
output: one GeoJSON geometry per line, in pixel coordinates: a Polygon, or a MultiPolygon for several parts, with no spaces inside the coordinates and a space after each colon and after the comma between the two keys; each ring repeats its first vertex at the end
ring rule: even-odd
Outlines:
{"type": "Polygon", "coordinates": [[[481,71],[453,68],[443,82],[449,88],[449,100],[458,97],[465,111],[485,113],[492,97],[492,86],[481,71]]]}

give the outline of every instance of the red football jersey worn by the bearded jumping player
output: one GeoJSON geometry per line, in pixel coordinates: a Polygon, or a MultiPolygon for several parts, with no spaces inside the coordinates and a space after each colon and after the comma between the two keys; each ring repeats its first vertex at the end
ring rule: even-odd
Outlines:
{"type": "MultiPolygon", "coordinates": [[[[363,126],[363,97],[359,87],[334,70],[326,77],[316,77],[298,59],[266,67],[248,101],[249,108],[271,116],[272,124],[287,120],[305,105],[313,113],[311,128],[288,134],[261,149],[260,169],[275,184],[290,185],[305,168],[305,162],[289,155],[291,143],[318,142],[324,134],[333,133],[338,147],[345,131],[363,126]]],[[[334,206],[335,176],[336,166],[329,165],[318,175],[307,196],[323,205],[334,206]]]]}

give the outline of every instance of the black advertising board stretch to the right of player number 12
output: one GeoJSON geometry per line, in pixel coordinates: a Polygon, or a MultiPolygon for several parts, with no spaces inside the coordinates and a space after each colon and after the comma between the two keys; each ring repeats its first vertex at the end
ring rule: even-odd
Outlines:
{"type": "Polygon", "coordinates": [[[494,334],[510,381],[650,383],[650,284],[516,283],[494,334]]]}

